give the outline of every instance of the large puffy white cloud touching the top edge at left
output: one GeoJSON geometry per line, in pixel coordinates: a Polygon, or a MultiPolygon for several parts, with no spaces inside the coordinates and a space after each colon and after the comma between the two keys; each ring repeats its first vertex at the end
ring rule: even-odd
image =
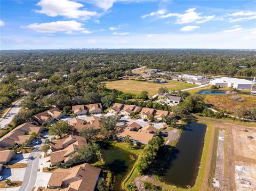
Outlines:
{"type": "Polygon", "coordinates": [[[65,16],[67,18],[82,18],[89,19],[91,16],[98,15],[97,12],[87,11],[87,10],[79,10],[84,5],[81,3],[77,3],[74,1],[68,0],[41,0],[37,4],[37,6],[41,6],[41,10],[35,10],[37,13],[43,13],[47,16],[65,16]]]}

